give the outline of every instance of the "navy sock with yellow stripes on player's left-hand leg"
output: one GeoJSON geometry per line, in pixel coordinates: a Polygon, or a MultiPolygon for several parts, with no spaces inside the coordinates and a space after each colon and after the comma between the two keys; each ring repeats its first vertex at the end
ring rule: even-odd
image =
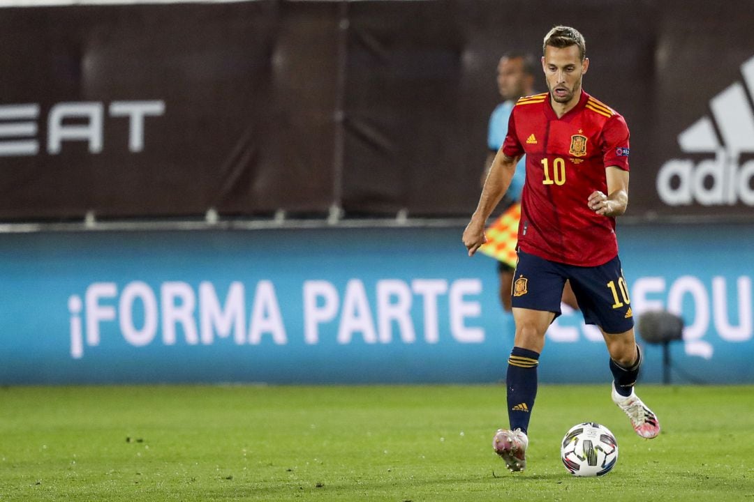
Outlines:
{"type": "Polygon", "coordinates": [[[537,366],[539,354],[526,348],[513,347],[508,357],[506,378],[508,420],[510,430],[526,434],[537,397],[537,366]]]}

